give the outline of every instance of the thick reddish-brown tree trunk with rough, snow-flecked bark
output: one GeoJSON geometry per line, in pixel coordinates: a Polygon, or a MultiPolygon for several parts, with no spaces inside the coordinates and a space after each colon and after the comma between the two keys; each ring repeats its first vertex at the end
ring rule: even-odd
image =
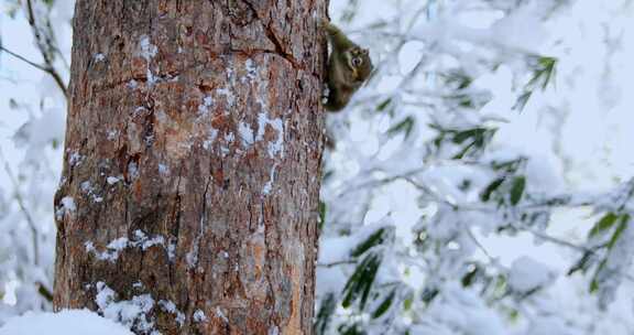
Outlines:
{"type": "Polygon", "coordinates": [[[56,310],[311,333],[326,8],[77,1],[56,310]]]}

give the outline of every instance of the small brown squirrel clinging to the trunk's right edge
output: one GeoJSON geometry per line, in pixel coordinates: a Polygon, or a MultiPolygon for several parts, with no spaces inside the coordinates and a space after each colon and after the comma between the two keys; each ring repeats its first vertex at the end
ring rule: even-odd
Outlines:
{"type": "Polygon", "coordinates": [[[321,24],[331,46],[327,72],[328,97],[324,107],[328,111],[339,111],[370,77],[372,60],[368,48],[350,41],[335,24],[327,20],[323,20],[321,24]]]}

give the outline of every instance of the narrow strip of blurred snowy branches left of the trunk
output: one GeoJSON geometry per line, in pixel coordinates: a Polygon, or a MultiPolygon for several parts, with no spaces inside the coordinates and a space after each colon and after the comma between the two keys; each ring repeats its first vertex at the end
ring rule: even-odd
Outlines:
{"type": "Polygon", "coordinates": [[[61,173],[69,55],[57,36],[69,39],[73,3],[1,3],[0,324],[52,307],[51,199],[61,173]]]}

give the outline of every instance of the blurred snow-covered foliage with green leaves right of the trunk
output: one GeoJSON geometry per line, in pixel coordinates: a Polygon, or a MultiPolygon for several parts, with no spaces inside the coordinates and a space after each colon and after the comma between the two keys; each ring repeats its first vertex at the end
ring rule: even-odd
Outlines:
{"type": "MultiPolygon", "coordinates": [[[[630,2],[617,2],[631,17],[630,2]]],[[[602,311],[632,284],[634,181],[595,193],[567,184],[553,143],[568,110],[548,96],[572,73],[558,73],[572,47],[558,24],[582,20],[583,4],[334,6],[378,69],[329,120],[337,148],[323,187],[317,334],[606,334],[598,315],[610,316],[602,311]],[[527,134],[510,141],[525,114],[550,118],[554,134],[524,123],[527,134]],[[595,220],[587,238],[551,235],[554,215],[579,209],[595,220]],[[489,250],[526,238],[562,248],[568,263],[553,268],[531,250],[504,263],[489,250]],[[554,285],[579,282],[570,291],[583,302],[557,307],[554,285]]]]}

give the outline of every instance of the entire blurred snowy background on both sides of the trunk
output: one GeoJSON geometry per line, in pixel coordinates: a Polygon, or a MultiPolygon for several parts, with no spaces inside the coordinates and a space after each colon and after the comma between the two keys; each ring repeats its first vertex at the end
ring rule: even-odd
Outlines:
{"type": "MultiPolygon", "coordinates": [[[[331,0],[376,71],[328,116],[317,334],[632,333],[632,2],[331,0]]],[[[44,44],[0,3],[0,334],[129,334],[39,314],[66,101],[9,53],[67,80],[73,1],[33,1],[44,44]]]]}

